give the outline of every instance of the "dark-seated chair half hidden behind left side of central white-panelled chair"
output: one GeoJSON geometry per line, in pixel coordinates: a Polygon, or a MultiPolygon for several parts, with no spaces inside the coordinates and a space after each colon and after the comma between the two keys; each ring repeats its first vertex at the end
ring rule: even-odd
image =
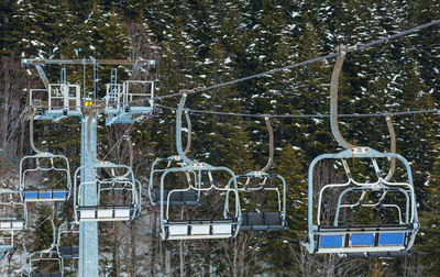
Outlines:
{"type": "MultiPolygon", "coordinates": [[[[187,111],[185,111],[185,118],[187,121],[187,126],[188,126],[188,135],[187,135],[187,145],[185,148],[184,154],[186,155],[189,152],[190,145],[191,145],[191,121],[189,119],[189,114],[187,111]]],[[[169,156],[166,158],[156,158],[153,162],[151,173],[150,173],[150,182],[148,182],[148,197],[150,197],[150,202],[153,206],[160,204],[161,203],[161,189],[155,188],[158,187],[158,184],[161,180],[161,176],[164,171],[166,171],[168,168],[176,167],[176,166],[185,166],[185,162],[180,158],[179,155],[174,155],[169,156]],[[162,168],[161,165],[165,164],[165,168],[162,168]],[[157,177],[156,177],[157,176],[157,177]],[[156,184],[156,186],[154,185],[156,184]]],[[[185,178],[188,184],[188,186],[193,186],[196,178],[197,174],[195,171],[185,173],[185,178]]],[[[172,186],[172,188],[176,188],[175,185],[172,186]]],[[[170,189],[166,188],[164,190],[165,193],[165,202],[168,199],[170,189]]],[[[195,191],[195,190],[183,190],[179,192],[174,192],[170,195],[169,198],[169,204],[170,206],[197,206],[200,203],[200,193],[201,190],[195,191]]]]}

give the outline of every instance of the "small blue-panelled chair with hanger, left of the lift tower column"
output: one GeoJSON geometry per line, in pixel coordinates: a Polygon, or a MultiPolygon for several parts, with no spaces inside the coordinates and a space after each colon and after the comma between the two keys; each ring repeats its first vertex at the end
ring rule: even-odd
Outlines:
{"type": "Polygon", "coordinates": [[[72,180],[68,159],[64,155],[56,155],[36,148],[33,138],[34,119],[33,110],[30,119],[30,142],[35,155],[25,156],[20,160],[20,191],[25,202],[53,202],[66,201],[70,198],[72,180]],[[62,175],[62,188],[52,186],[54,180],[50,176],[62,175]],[[40,179],[38,179],[40,178],[40,179]]]}

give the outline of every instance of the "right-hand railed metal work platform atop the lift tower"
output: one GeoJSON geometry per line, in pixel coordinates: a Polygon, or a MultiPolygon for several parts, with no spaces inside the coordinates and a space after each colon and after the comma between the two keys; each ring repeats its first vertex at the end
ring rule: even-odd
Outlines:
{"type": "MultiPolygon", "coordinates": [[[[150,60],[150,66],[155,66],[155,60],[150,60]]],[[[135,65],[135,70],[138,68],[140,66],[135,65]]],[[[157,107],[153,100],[155,80],[130,79],[119,84],[117,68],[113,68],[111,70],[111,82],[106,85],[106,125],[133,123],[144,117],[152,117],[157,113],[157,107]]]]}

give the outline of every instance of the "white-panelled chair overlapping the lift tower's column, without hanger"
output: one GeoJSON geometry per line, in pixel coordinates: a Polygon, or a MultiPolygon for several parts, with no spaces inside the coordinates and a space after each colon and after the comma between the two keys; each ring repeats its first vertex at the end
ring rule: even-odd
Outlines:
{"type": "MultiPolygon", "coordinates": [[[[141,209],[141,184],[134,179],[131,167],[125,165],[116,165],[110,162],[98,160],[95,166],[97,174],[98,203],[96,206],[85,206],[81,199],[81,191],[88,182],[80,182],[80,169],[75,170],[74,181],[74,209],[75,221],[130,221],[140,215],[141,209]],[[110,171],[110,177],[103,178],[105,171],[110,171]],[[122,171],[119,174],[118,171],[122,171]],[[103,195],[128,193],[129,203],[103,203],[103,195]]],[[[95,184],[95,182],[94,182],[95,184]]],[[[125,199],[127,201],[127,199],[125,199]]]]}

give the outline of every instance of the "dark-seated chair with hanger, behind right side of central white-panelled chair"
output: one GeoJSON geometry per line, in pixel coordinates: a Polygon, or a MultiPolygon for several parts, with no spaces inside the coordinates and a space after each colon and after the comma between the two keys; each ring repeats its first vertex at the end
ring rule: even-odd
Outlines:
{"type": "MultiPolygon", "coordinates": [[[[283,231],[286,228],[286,180],[280,175],[266,173],[266,170],[271,168],[274,160],[274,133],[270,119],[265,118],[265,121],[270,134],[268,162],[263,169],[250,171],[244,175],[238,175],[237,179],[238,181],[240,179],[245,180],[244,186],[240,186],[241,182],[239,181],[240,192],[250,192],[252,195],[266,193],[267,197],[271,192],[275,192],[276,199],[274,200],[277,203],[276,211],[267,211],[266,207],[263,209],[263,211],[258,210],[257,208],[255,208],[255,211],[242,211],[241,215],[243,221],[240,225],[240,231],[283,231]],[[278,186],[274,186],[272,184],[274,180],[279,180],[278,186]],[[252,182],[256,182],[256,186],[253,186],[252,182]],[[267,185],[267,182],[272,185],[267,185]]],[[[229,197],[227,197],[227,201],[228,200],[229,197]]],[[[229,204],[226,204],[224,207],[228,208],[229,204]]]]}

